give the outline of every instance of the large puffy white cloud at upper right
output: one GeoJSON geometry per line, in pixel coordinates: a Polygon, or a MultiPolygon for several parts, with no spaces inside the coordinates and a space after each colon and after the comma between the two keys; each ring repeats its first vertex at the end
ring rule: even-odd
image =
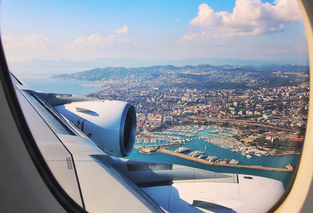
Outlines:
{"type": "Polygon", "coordinates": [[[199,40],[281,32],[285,23],[299,21],[301,13],[296,0],[236,0],[233,12],[215,12],[208,4],[198,7],[198,15],[192,18],[190,30],[182,39],[199,40]]]}

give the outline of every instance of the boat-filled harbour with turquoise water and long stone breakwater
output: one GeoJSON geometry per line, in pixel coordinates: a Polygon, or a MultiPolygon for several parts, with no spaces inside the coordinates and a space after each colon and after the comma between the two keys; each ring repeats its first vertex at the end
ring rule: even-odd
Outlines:
{"type": "MultiPolygon", "coordinates": [[[[137,135],[136,139],[141,139],[141,144],[136,145],[153,145],[159,146],[159,148],[152,152],[154,154],[146,155],[145,153],[142,154],[143,152],[141,152],[141,148],[139,146],[135,146],[136,148],[139,147],[140,152],[133,151],[131,154],[132,158],[151,161],[151,156],[153,156],[154,161],[159,159],[160,162],[166,163],[168,160],[171,160],[171,162],[173,161],[177,164],[193,166],[217,172],[236,172],[240,174],[264,175],[269,178],[275,178],[285,182],[288,182],[291,179],[293,174],[292,165],[296,165],[298,155],[273,156],[267,155],[266,153],[259,154],[259,151],[261,150],[255,150],[254,148],[246,146],[236,139],[232,139],[232,137],[229,135],[224,135],[230,134],[232,132],[235,132],[235,134],[239,135],[242,134],[239,131],[236,132],[236,129],[224,128],[223,131],[220,131],[219,129],[221,128],[213,125],[196,127],[197,129],[194,126],[171,126],[168,129],[157,131],[158,133],[181,132],[193,134],[195,136],[192,136],[192,140],[190,140],[191,137],[184,135],[166,134],[164,136],[179,136],[181,139],[175,140],[168,138],[170,140],[167,140],[166,137],[164,137],[164,140],[161,141],[158,139],[162,139],[163,134],[156,134],[156,132],[142,133],[139,135],[140,137],[137,135]],[[220,132],[212,133],[211,131],[214,130],[218,130],[220,132]],[[160,136],[161,138],[159,138],[160,136]],[[147,138],[153,139],[150,139],[151,142],[148,144],[144,144],[143,141],[147,138]],[[157,143],[152,143],[154,139],[157,139],[157,143]],[[183,142],[182,139],[184,139],[185,142],[183,142]],[[231,147],[233,145],[235,147],[231,147]],[[186,148],[187,151],[183,153],[175,153],[175,150],[177,150],[179,147],[186,148]],[[240,150],[240,148],[242,148],[242,150],[240,150]],[[196,150],[203,152],[203,154],[200,154],[197,157],[188,156],[190,153],[196,150]],[[255,153],[255,151],[257,153],[255,153]],[[226,161],[225,159],[229,160],[226,161]],[[288,165],[288,168],[286,165],[288,165]],[[258,171],[262,171],[262,173],[259,173],[258,171]]],[[[230,135],[233,136],[233,134],[230,135]]]]}

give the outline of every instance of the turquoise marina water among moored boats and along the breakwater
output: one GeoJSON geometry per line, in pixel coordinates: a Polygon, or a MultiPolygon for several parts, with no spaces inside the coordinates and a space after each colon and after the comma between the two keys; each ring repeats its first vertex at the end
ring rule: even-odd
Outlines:
{"type": "MultiPolygon", "coordinates": [[[[173,127],[171,126],[169,129],[175,129],[175,131],[173,132],[180,132],[178,130],[190,130],[192,132],[192,129],[194,129],[194,126],[189,126],[189,128],[187,127],[187,125],[185,127],[182,126],[177,126],[177,127],[173,127]]],[[[198,129],[203,129],[201,128],[202,126],[198,126],[198,129]]],[[[212,170],[212,171],[217,171],[217,172],[230,172],[230,173],[240,173],[240,174],[250,174],[250,175],[260,175],[260,176],[265,176],[265,177],[269,177],[269,178],[274,178],[276,180],[281,180],[284,181],[286,183],[288,183],[291,180],[292,177],[292,172],[283,172],[283,174],[279,171],[279,170],[262,170],[262,172],[260,173],[260,169],[254,169],[256,167],[267,167],[267,168],[281,168],[281,169],[285,169],[285,165],[289,165],[289,163],[291,165],[296,165],[297,164],[297,160],[299,155],[282,155],[282,156],[272,156],[272,155],[261,155],[261,156],[257,156],[257,155],[252,155],[252,158],[246,157],[246,151],[244,153],[242,152],[235,152],[235,151],[231,151],[231,149],[227,149],[227,148],[222,148],[218,145],[215,145],[211,142],[205,141],[205,139],[209,139],[209,136],[212,136],[212,138],[222,138],[222,139],[231,139],[231,137],[225,136],[225,135],[220,135],[220,134],[211,134],[210,131],[214,130],[213,129],[214,126],[205,126],[205,128],[201,131],[198,131],[198,133],[195,134],[194,137],[192,137],[192,141],[189,142],[182,142],[183,145],[178,145],[177,147],[172,147],[172,140],[166,140],[164,139],[163,141],[159,141],[157,140],[156,144],[141,144],[141,145],[158,145],[158,144],[168,144],[169,148],[166,148],[165,150],[168,151],[175,151],[177,150],[178,147],[185,147],[187,149],[190,149],[189,152],[185,152],[182,153],[182,155],[184,156],[188,156],[188,154],[191,151],[194,150],[202,150],[204,151],[203,155],[207,155],[206,157],[202,158],[202,159],[198,159],[198,157],[191,157],[191,159],[187,159],[185,157],[180,157],[177,155],[171,155],[169,154],[169,152],[165,153],[162,151],[156,151],[155,154],[153,155],[145,155],[145,154],[141,154],[139,152],[139,150],[133,150],[132,154],[130,155],[131,159],[137,159],[137,160],[147,160],[147,161],[158,161],[158,162],[164,162],[167,163],[169,161],[175,163],[175,164],[180,164],[180,165],[187,165],[187,166],[192,166],[192,167],[197,167],[197,168],[201,168],[201,169],[205,169],[205,170],[212,170]],[[207,138],[203,138],[203,139],[199,139],[199,137],[206,137],[207,138]],[[244,154],[244,155],[243,155],[244,154]],[[153,156],[153,159],[151,159],[151,156],[153,156]],[[216,156],[217,159],[215,159],[214,162],[210,162],[208,157],[214,157],[216,156]],[[229,159],[228,163],[226,165],[231,165],[231,166],[223,166],[223,165],[219,165],[217,164],[217,166],[214,164],[203,164],[202,162],[198,162],[197,160],[203,160],[203,161],[207,161],[210,163],[219,163],[219,164],[226,164],[227,161],[225,161],[224,159],[229,159]],[[207,160],[208,159],[208,160],[207,160]],[[238,160],[239,163],[238,164],[232,164],[230,162],[232,159],[238,160]],[[239,166],[238,166],[239,165],[239,166]],[[242,166],[240,166],[242,165],[242,166]],[[250,167],[252,166],[253,167],[250,167]],[[258,166],[256,166],[258,165],[258,166]],[[245,167],[248,166],[248,167],[245,167]]],[[[229,129],[233,129],[233,128],[229,128],[229,129]]],[[[168,129],[163,129],[162,131],[167,131],[169,132],[168,129]]],[[[162,132],[159,130],[159,132],[162,132]]],[[[228,134],[229,132],[231,132],[232,130],[228,130],[226,132],[226,134],[228,134]]],[[[236,131],[236,129],[233,129],[233,131],[236,131]]],[[[189,132],[186,132],[189,133],[189,132]]],[[[192,134],[192,133],[190,133],[192,134]]],[[[154,135],[153,132],[146,132],[145,134],[138,134],[138,136],[140,136],[140,138],[144,138],[143,136],[146,137],[151,137],[151,135],[154,135]]],[[[153,137],[158,137],[159,135],[153,136],[153,137]]],[[[171,136],[171,135],[169,135],[171,136]]],[[[172,135],[174,136],[174,135],[172,135]]],[[[190,137],[187,136],[180,136],[183,139],[191,139],[190,137]]],[[[175,140],[174,140],[175,141],[175,140]]],[[[236,142],[236,141],[234,141],[236,142]]],[[[238,141],[239,142],[239,141],[238,141]]],[[[241,144],[239,142],[239,144],[241,144]]],[[[162,145],[164,146],[164,145],[162,145]]],[[[242,145],[242,147],[246,147],[249,149],[249,146],[244,146],[242,145]]],[[[251,147],[252,148],[252,147],[251,147]]],[[[241,150],[240,150],[241,151],[241,150]]],[[[189,156],[188,156],[189,157],[189,156]]],[[[213,159],[212,159],[213,160],[213,159]]],[[[285,171],[285,170],[283,170],[285,171]]],[[[289,171],[289,170],[288,170],[289,171]]]]}

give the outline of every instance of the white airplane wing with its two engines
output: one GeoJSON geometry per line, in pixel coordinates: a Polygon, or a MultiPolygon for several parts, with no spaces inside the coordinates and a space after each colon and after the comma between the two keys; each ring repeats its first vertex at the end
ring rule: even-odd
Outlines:
{"type": "Polygon", "coordinates": [[[129,160],[132,104],[34,91],[12,74],[29,129],[54,177],[89,212],[265,212],[278,180],[129,160]]]}

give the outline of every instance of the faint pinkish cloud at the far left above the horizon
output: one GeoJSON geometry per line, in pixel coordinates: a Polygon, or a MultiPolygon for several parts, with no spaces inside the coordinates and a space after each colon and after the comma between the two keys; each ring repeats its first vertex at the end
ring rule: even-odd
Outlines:
{"type": "Polygon", "coordinates": [[[45,34],[33,34],[18,38],[15,36],[2,37],[4,48],[28,48],[34,50],[46,49],[53,42],[45,34]]]}

